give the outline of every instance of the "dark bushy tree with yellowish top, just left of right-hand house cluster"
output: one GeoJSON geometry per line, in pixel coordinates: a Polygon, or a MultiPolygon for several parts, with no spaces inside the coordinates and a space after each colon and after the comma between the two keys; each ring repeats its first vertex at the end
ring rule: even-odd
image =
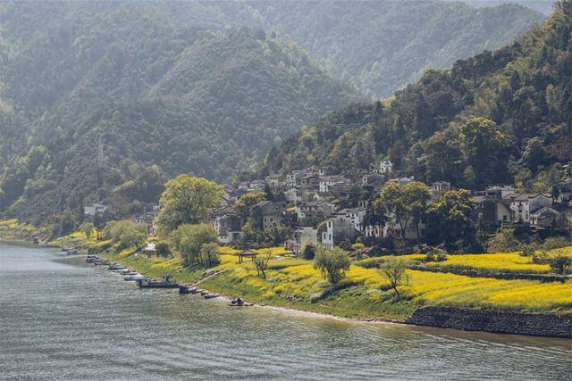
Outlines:
{"type": "Polygon", "coordinates": [[[471,220],[474,206],[466,189],[449,190],[438,201],[430,203],[427,214],[429,230],[435,232],[435,237],[429,237],[433,238],[433,244],[443,243],[451,249],[459,241],[472,243],[475,240],[471,220]]]}

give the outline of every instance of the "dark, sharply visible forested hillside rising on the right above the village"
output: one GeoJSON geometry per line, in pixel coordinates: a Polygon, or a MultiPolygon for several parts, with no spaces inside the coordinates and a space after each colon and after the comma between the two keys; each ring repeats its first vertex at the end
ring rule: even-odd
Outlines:
{"type": "Polygon", "coordinates": [[[571,29],[567,0],[508,46],[302,128],[268,155],[261,174],[331,164],[355,175],[387,157],[420,180],[546,191],[572,153],[571,29]]]}

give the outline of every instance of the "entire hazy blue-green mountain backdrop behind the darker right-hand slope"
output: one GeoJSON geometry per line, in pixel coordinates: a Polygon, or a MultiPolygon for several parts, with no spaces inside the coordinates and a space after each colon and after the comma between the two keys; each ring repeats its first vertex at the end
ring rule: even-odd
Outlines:
{"type": "Polygon", "coordinates": [[[319,63],[383,95],[542,19],[397,4],[0,4],[0,212],[68,220],[94,199],[156,200],[181,172],[226,179],[366,99],[319,63]]]}

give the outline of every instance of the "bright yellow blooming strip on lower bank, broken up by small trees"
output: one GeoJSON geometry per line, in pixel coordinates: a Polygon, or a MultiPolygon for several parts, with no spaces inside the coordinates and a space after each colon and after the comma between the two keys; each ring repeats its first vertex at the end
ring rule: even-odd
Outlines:
{"type": "MultiPolygon", "coordinates": [[[[227,269],[231,277],[237,281],[247,279],[248,286],[268,296],[283,294],[307,298],[328,286],[320,272],[314,269],[311,261],[297,260],[299,263],[293,266],[267,270],[266,279],[262,279],[257,277],[257,271],[252,263],[239,264],[232,256],[223,256],[222,260],[221,267],[227,269]]],[[[276,262],[278,261],[272,260],[269,265],[273,266],[276,262]]],[[[408,270],[408,278],[408,286],[401,286],[402,293],[421,305],[498,308],[516,311],[572,309],[572,281],[542,283],[530,280],[466,277],[418,270],[408,270]]],[[[377,269],[351,266],[347,279],[366,286],[369,290],[388,286],[387,280],[377,269]]]]}

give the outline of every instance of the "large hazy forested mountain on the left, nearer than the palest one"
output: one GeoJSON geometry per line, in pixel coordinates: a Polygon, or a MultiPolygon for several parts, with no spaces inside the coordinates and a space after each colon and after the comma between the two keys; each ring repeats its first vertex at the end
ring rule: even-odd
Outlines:
{"type": "Polygon", "coordinates": [[[359,99],[260,29],[187,28],[157,4],[3,5],[0,206],[24,219],[125,195],[141,176],[227,178],[359,99]]]}

